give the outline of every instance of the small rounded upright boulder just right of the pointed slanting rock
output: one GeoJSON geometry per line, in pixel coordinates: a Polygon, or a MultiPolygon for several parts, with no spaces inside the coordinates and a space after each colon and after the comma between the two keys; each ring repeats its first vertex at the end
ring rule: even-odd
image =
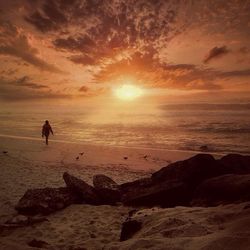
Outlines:
{"type": "Polygon", "coordinates": [[[113,205],[121,200],[119,185],[108,176],[103,174],[94,175],[93,185],[103,204],[113,205]]]}

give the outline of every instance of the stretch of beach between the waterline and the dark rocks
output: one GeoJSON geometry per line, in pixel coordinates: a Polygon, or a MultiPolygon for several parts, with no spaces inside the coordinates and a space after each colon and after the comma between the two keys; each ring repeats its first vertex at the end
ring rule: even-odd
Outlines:
{"type": "Polygon", "coordinates": [[[62,174],[65,171],[89,184],[95,174],[105,174],[117,183],[124,183],[149,176],[170,162],[195,154],[53,141],[46,146],[42,140],[4,137],[0,150],[1,214],[13,211],[28,188],[64,186],[62,174]],[[3,151],[8,153],[3,154],[3,151]]]}

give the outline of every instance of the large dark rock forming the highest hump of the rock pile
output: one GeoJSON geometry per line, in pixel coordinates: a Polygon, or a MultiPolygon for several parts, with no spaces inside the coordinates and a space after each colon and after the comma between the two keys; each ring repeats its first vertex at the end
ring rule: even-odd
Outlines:
{"type": "Polygon", "coordinates": [[[155,182],[178,180],[188,184],[190,188],[202,181],[223,173],[221,164],[209,154],[197,154],[187,160],[169,164],[152,174],[155,182]]]}

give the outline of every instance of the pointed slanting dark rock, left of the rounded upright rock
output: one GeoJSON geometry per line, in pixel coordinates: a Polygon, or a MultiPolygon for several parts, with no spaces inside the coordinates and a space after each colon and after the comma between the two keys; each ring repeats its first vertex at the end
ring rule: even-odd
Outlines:
{"type": "Polygon", "coordinates": [[[101,199],[97,194],[96,190],[87,184],[85,181],[76,178],[67,172],[63,174],[63,179],[67,185],[67,187],[78,196],[81,197],[83,202],[92,205],[101,204],[101,199]]]}

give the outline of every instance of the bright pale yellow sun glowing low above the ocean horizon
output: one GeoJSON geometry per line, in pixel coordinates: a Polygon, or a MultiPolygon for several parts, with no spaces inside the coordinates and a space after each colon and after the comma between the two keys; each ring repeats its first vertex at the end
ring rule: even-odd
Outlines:
{"type": "Polygon", "coordinates": [[[131,101],[143,94],[143,90],[132,84],[124,84],[114,89],[114,94],[119,99],[131,101]]]}

